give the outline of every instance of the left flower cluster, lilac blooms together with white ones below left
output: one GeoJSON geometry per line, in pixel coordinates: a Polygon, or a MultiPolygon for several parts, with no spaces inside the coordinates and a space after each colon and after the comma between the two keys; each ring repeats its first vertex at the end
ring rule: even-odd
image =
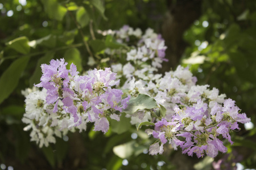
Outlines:
{"type": "Polygon", "coordinates": [[[106,133],[107,118],[119,121],[119,113],[130,99],[129,96],[122,99],[123,92],[112,88],[119,80],[109,68],[94,69],[80,76],[73,63],[69,70],[66,66],[64,59],[43,64],[41,82],[35,85],[43,90],[32,92],[25,100],[23,122],[29,124],[25,129],[32,128],[31,139],[40,141],[41,147],[48,145],[44,141],[55,142],[54,133],[61,136],[63,130],[86,130],[87,122],[94,122],[94,130],[106,133]]]}

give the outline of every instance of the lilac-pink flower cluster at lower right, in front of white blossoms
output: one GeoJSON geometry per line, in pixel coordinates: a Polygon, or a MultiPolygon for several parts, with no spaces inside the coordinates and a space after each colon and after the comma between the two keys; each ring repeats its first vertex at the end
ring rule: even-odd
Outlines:
{"type": "Polygon", "coordinates": [[[179,146],[183,154],[192,156],[195,153],[198,158],[207,154],[214,158],[218,151],[227,151],[217,137],[221,135],[233,144],[230,131],[240,129],[238,122],[245,124],[250,121],[245,113],[239,113],[240,109],[231,99],[226,99],[223,105],[216,102],[213,108],[200,99],[192,107],[180,107],[175,106],[171,121],[163,118],[155,123],[154,130],[147,130],[161,143],[160,147],[159,142],[150,146],[151,155],[162,154],[163,144],[169,141],[175,150],[179,146]]]}

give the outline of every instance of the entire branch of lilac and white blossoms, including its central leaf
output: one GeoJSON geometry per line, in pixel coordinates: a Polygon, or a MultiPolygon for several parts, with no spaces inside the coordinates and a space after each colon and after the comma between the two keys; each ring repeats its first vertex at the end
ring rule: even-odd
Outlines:
{"type": "Polygon", "coordinates": [[[168,142],[175,150],[180,147],[183,154],[214,158],[218,151],[227,151],[221,139],[233,144],[229,133],[240,130],[238,122],[250,121],[235,101],[219,95],[217,88],[196,85],[197,79],[188,68],[178,66],[164,76],[157,74],[162,62],[167,61],[166,46],[152,29],[142,35],[141,29],[125,25],[118,31],[100,33],[125,45],[105,50],[114,56],[114,73],[110,68],[94,69],[81,76],[73,63],[67,70],[64,59],[41,66],[41,82],[35,86],[43,90],[27,94],[22,119],[28,124],[24,130],[32,128],[31,141],[39,147],[55,143],[54,135],[86,130],[88,122],[94,122],[94,130],[106,133],[108,118],[119,121],[124,112],[137,129],[154,125],[154,130],[146,129],[156,138],[149,149],[151,155],[162,154],[168,142]],[[113,88],[119,83],[123,86],[113,88]]]}

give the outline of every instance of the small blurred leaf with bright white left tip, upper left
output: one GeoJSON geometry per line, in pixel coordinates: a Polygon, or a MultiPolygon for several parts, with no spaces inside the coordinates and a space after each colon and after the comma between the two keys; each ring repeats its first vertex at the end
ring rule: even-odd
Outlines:
{"type": "Polygon", "coordinates": [[[47,46],[49,48],[53,48],[56,45],[56,36],[55,35],[48,35],[43,37],[42,39],[33,40],[28,42],[28,44],[32,48],[36,48],[37,45],[47,46]]]}

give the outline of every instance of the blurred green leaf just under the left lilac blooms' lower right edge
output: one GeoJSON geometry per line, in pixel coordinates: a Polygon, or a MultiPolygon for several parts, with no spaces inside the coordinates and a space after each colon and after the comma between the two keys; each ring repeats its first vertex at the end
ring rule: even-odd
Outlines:
{"type": "Polygon", "coordinates": [[[112,131],[117,134],[122,134],[128,130],[130,130],[130,118],[125,117],[125,114],[122,114],[120,117],[120,121],[110,120],[110,126],[112,127],[112,131]]]}

